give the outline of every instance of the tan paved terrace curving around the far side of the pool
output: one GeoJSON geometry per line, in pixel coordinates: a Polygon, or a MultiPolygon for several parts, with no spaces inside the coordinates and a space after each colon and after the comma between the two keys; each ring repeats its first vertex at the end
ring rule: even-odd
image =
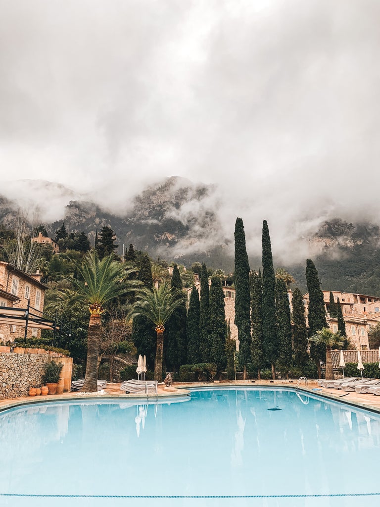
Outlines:
{"type": "MultiPolygon", "coordinates": [[[[167,398],[172,396],[183,396],[188,394],[188,388],[191,387],[289,387],[295,389],[297,380],[238,380],[235,382],[193,382],[193,383],[176,383],[173,382],[171,387],[158,386],[158,397],[167,398]]],[[[339,389],[326,389],[318,386],[316,380],[309,380],[308,386],[302,381],[299,386],[302,392],[311,392],[313,394],[320,394],[332,400],[337,400],[349,405],[356,405],[358,407],[372,410],[380,413],[380,396],[373,394],[358,394],[356,392],[346,392],[339,389]]],[[[0,401],[0,411],[8,408],[17,407],[19,405],[32,404],[36,402],[51,402],[51,401],[68,401],[68,400],[83,400],[83,399],[99,399],[102,397],[115,398],[115,400],[138,400],[146,401],[146,394],[126,394],[120,390],[120,383],[108,383],[103,392],[98,393],[82,393],[79,391],[66,392],[63,394],[50,394],[47,396],[25,396],[15,399],[7,399],[0,401]]],[[[156,394],[149,393],[149,399],[156,399],[156,394]]]]}

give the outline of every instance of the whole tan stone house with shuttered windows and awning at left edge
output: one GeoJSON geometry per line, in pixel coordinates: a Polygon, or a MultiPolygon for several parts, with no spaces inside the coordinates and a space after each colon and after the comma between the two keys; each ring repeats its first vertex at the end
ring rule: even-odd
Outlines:
{"type": "Polygon", "coordinates": [[[0,342],[14,342],[15,338],[25,336],[28,307],[27,338],[41,336],[43,323],[36,321],[43,316],[46,288],[40,273],[28,275],[0,261],[0,342]]]}

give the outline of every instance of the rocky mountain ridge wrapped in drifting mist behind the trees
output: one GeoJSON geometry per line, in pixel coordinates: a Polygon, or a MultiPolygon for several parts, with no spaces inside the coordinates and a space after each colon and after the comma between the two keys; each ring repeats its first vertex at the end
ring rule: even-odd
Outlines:
{"type": "MultiPolygon", "coordinates": [[[[41,181],[27,184],[36,189],[39,196],[45,191],[51,200],[62,192],[62,201],[64,198],[68,201],[59,220],[43,222],[52,237],[64,220],[69,232],[84,231],[93,244],[96,230],[100,232],[106,225],[116,233],[120,254],[123,244],[127,249],[132,243],[135,249],[147,251],[153,258],[160,256],[185,266],[196,261],[205,262],[225,272],[234,270],[233,231],[230,237],[223,234],[214,187],[169,177],[131,199],[128,211],[116,214],[94,203],[90,196],[80,196],[64,186],[41,181]]],[[[0,223],[13,227],[18,205],[16,199],[9,199],[3,193],[0,223]]],[[[380,229],[377,225],[353,224],[334,218],[320,224],[309,237],[295,239],[295,245],[297,241],[308,244],[308,257],[318,269],[323,289],[380,295],[380,229]]],[[[251,268],[259,269],[260,253],[250,252],[249,245],[247,250],[251,268]]],[[[285,267],[306,292],[306,258],[284,265],[284,261],[280,263],[276,259],[276,251],[273,256],[275,267],[285,267]]]]}

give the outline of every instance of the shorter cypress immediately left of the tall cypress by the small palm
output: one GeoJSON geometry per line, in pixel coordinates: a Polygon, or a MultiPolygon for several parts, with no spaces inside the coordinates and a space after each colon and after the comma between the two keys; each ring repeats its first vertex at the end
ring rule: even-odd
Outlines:
{"type": "Polygon", "coordinates": [[[301,369],[309,360],[308,354],[308,330],[306,328],[305,305],[299,288],[295,288],[292,298],[293,307],[293,347],[294,364],[301,369]]]}

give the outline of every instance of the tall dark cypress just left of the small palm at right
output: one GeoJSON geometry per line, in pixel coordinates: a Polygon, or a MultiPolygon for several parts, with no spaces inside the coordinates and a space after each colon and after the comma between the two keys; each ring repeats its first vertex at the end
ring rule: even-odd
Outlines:
{"type": "MultiPolygon", "coordinates": [[[[306,284],[309,292],[309,336],[314,336],[317,331],[327,328],[325,303],[318,271],[311,259],[306,260],[306,284]]],[[[310,343],[310,356],[318,368],[318,378],[321,378],[320,361],[326,358],[326,346],[323,343],[310,343]]]]}

